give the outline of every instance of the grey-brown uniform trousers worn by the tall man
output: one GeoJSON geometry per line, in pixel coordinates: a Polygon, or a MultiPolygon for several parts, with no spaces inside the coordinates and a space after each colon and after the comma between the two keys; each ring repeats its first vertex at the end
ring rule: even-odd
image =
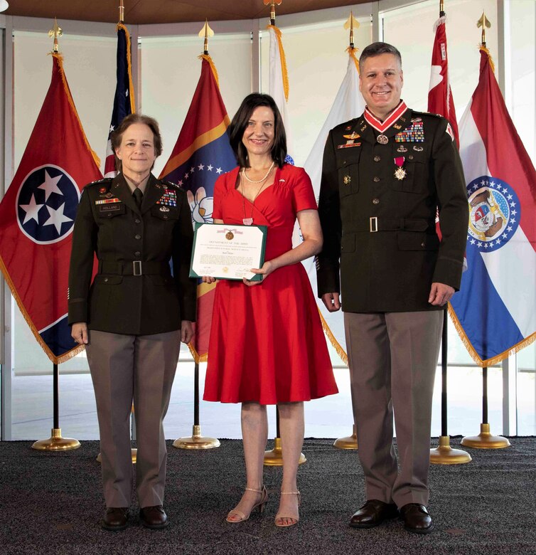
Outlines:
{"type": "Polygon", "coordinates": [[[432,395],[443,312],[345,312],[344,323],[367,499],[398,507],[427,505],[432,395]]]}

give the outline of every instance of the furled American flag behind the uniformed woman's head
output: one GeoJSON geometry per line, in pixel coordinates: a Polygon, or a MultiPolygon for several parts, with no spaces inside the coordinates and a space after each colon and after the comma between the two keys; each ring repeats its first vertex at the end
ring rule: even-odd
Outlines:
{"type": "Polygon", "coordinates": [[[124,117],[136,111],[134,103],[134,85],[132,85],[132,68],[130,63],[130,35],[122,23],[117,23],[117,85],[115,87],[112,121],[109,125],[104,177],[115,177],[115,159],[110,137],[124,117]]]}

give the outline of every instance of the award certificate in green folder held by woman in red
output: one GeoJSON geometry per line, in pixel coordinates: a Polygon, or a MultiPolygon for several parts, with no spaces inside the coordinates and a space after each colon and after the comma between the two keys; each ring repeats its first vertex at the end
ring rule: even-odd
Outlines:
{"type": "Polygon", "coordinates": [[[196,223],[190,277],[257,281],[251,268],[262,268],[267,226],[196,223]]]}

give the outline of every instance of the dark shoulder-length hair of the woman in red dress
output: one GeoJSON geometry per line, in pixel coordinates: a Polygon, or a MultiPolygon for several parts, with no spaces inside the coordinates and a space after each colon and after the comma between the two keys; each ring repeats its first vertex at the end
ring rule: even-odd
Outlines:
{"type": "Polygon", "coordinates": [[[231,148],[233,152],[235,152],[238,165],[241,168],[249,168],[250,162],[247,159],[247,149],[242,143],[242,137],[244,136],[247,122],[250,121],[250,117],[255,108],[259,106],[267,106],[274,112],[274,144],[272,144],[271,154],[272,160],[279,168],[282,168],[286,158],[286,133],[281,112],[279,112],[275,100],[270,95],[252,93],[242,100],[242,104],[240,108],[238,108],[235,117],[232,118],[231,125],[229,126],[229,142],[231,148]]]}

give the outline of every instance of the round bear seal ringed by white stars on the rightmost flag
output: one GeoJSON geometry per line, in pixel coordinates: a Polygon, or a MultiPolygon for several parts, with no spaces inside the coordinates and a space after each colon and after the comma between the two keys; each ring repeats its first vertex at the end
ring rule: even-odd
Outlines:
{"type": "Polygon", "coordinates": [[[508,243],[520,221],[520,203],[514,189],[502,179],[480,176],[468,184],[467,195],[468,248],[489,253],[508,243]]]}

